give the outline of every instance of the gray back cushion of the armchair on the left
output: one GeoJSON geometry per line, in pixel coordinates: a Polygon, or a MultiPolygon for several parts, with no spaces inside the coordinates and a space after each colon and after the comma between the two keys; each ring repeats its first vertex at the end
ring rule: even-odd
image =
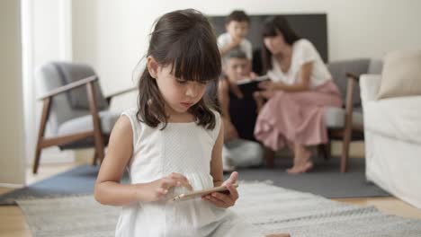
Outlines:
{"type": "MultiPolygon", "coordinates": [[[[94,69],[91,66],[67,62],[55,62],[58,75],[62,80],[61,83],[74,83],[80,79],[95,75],[94,69]]],[[[96,106],[98,110],[105,110],[108,108],[108,102],[103,97],[99,83],[94,83],[96,106]]],[[[86,93],[86,87],[82,86],[67,92],[67,99],[72,109],[89,110],[89,100],[86,93]]]]}

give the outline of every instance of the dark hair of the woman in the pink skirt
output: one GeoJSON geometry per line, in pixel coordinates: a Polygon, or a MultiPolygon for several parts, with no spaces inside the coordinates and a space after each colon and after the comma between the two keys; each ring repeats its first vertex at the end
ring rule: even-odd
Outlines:
{"type": "MultiPolygon", "coordinates": [[[[262,35],[265,37],[274,37],[282,34],[283,40],[289,45],[292,45],[295,41],[300,40],[300,37],[291,29],[288,21],[281,15],[270,16],[264,21],[262,35]]],[[[264,66],[264,73],[271,70],[272,65],[272,54],[269,49],[263,43],[262,50],[262,61],[264,66]]]]}

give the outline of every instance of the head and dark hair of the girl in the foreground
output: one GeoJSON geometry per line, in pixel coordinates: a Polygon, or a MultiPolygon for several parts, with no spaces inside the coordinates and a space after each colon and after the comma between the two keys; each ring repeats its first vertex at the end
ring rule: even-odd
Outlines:
{"type": "Polygon", "coordinates": [[[151,33],[147,58],[139,79],[140,120],[165,127],[171,115],[188,112],[199,125],[213,128],[215,116],[204,92],[216,83],[221,65],[207,18],[193,9],[164,14],[151,33]]]}

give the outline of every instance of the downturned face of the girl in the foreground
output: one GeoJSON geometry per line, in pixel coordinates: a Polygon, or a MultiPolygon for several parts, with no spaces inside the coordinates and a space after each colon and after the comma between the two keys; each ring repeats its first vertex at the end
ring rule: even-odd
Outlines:
{"type": "Polygon", "coordinates": [[[206,83],[176,78],[171,73],[172,65],[159,66],[155,59],[152,60],[154,62],[148,62],[149,73],[157,80],[157,87],[166,102],[169,115],[185,113],[202,99],[206,83]]]}

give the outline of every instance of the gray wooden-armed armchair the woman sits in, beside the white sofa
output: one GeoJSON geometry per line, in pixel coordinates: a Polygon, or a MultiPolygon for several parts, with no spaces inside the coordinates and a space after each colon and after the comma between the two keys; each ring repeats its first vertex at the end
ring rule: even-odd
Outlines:
{"type": "MultiPolygon", "coordinates": [[[[342,172],[347,169],[351,140],[363,139],[363,110],[358,83],[359,76],[381,74],[381,67],[381,60],[367,58],[335,61],[327,65],[344,101],[343,108],[328,108],[325,114],[329,140],[341,139],[343,141],[340,168],[342,172]]],[[[325,157],[330,156],[330,142],[319,148],[325,157]]]]}

